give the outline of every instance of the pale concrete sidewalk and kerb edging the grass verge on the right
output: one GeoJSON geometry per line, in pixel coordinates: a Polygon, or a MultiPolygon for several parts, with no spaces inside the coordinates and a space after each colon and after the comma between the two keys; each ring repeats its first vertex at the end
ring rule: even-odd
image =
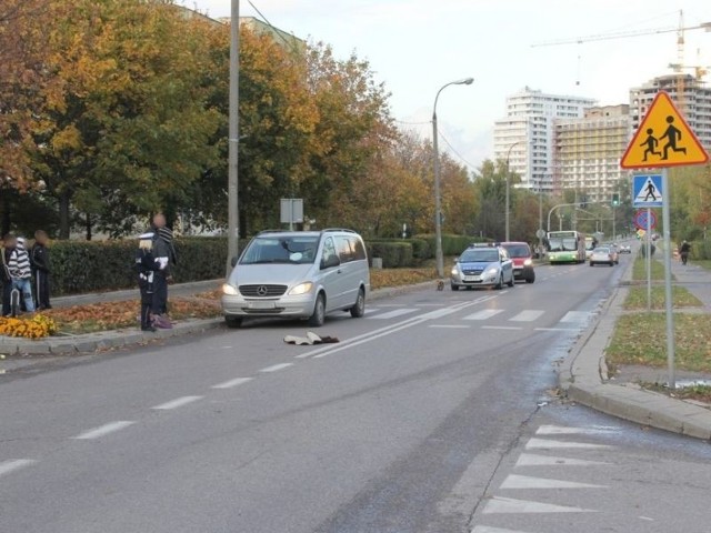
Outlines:
{"type": "MultiPolygon", "coordinates": [[[[631,281],[630,261],[623,281],[631,281]]],[[[693,265],[672,265],[675,284],[687,286],[711,312],[711,272],[693,265]]],[[[604,351],[612,338],[628,286],[618,288],[605,304],[601,319],[580,339],[560,370],[560,385],[568,398],[604,413],[643,425],[711,440],[711,410],[639,385],[614,384],[609,380],[604,351]]]]}

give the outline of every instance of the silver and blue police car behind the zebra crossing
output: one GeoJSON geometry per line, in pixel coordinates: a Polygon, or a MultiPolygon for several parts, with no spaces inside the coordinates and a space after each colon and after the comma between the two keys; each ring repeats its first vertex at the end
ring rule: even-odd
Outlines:
{"type": "Polygon", "coordinates": [[[452,291],[465,286],[493,286],[502,289],[505,283],[513,286],[513,261],[502,247],[472,244],[457,258],[452,266],[450,284],[452,291]]]}

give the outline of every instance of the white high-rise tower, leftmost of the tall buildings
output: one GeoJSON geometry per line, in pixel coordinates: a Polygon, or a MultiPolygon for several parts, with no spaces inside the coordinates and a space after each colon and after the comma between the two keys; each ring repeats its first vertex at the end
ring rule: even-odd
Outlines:
{"type": "Polygon", "coordinates": [[[554,131],[557,119],[579,119],[595,104],[590,98],[545,94],[524,88],[507,98],[507,117],[493,128],[493,151],[521,177],[521,187],[535,192],[557,190],[554,131]]]}

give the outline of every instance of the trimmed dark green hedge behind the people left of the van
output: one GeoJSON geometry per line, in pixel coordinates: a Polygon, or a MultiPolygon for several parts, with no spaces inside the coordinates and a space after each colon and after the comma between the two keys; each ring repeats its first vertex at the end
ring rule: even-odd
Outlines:
{"type": "MultiPolygon", "coordinates": [[[[248,241],[240,242],[240,250],[248,241]]],[[[51,245],[52,293],[77,294],[137,286],[134,239],[110,241],[57,241],[51,245]]],[[[227,238],[191,237],[174,240],[178,283],[224,276],[227,238]]]]}

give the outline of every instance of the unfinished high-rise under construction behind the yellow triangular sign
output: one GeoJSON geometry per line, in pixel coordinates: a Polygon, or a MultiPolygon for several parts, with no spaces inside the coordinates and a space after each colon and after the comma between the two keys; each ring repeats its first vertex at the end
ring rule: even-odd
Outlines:
{"type": "Polygon", "coordinates": [[[711,150],[711,88],[690,74],[660,76],[630,89],[632,131],[637,131],[652,100],[662,90],[680,109],[703,148],[711,150]]]}

